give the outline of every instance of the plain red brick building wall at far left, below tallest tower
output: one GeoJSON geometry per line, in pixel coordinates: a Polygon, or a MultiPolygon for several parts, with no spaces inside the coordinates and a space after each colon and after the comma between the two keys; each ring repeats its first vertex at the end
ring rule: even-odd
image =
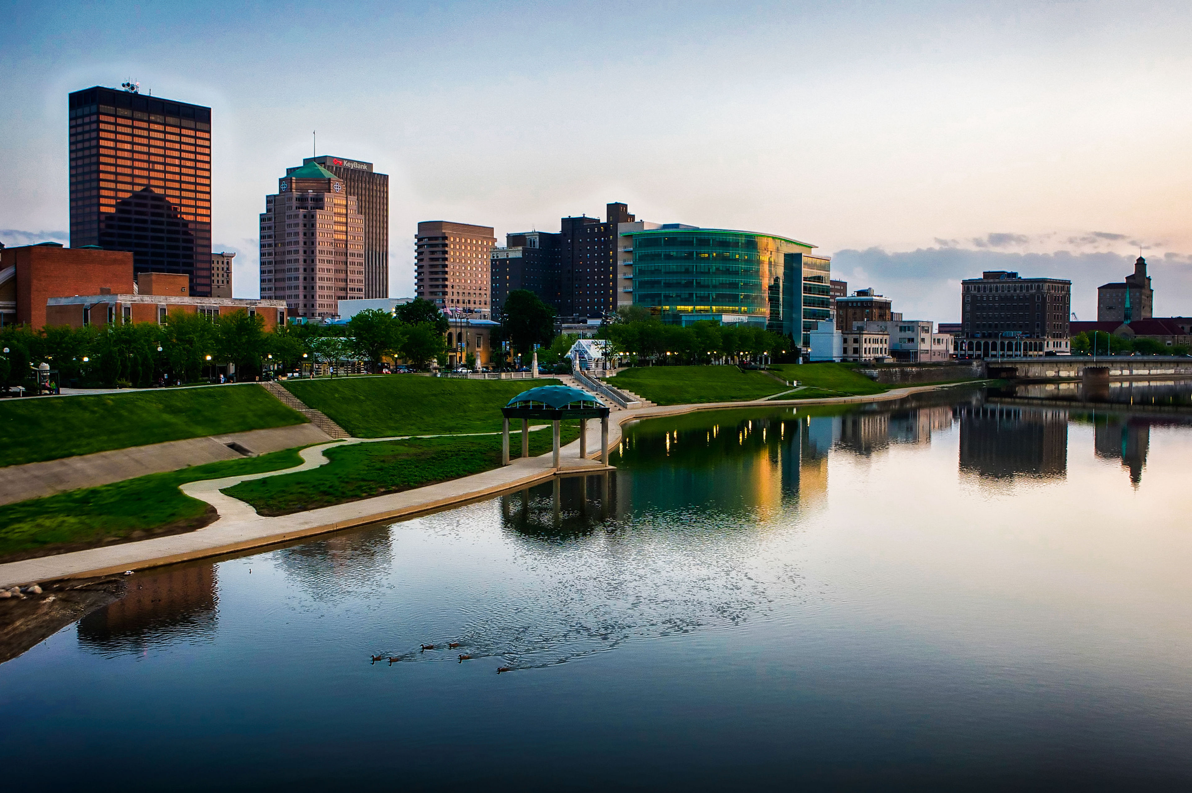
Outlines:
{"type": "Polygon", "coordinates": [[[46,324],[45,301],[50,298],[99,294],[100,287],[113,293],[132,292],[132,254],[128,251],[6,248],[0,254],[0,269],[13,264],[17,266],[17,321],[33,327],[46,324]]]}

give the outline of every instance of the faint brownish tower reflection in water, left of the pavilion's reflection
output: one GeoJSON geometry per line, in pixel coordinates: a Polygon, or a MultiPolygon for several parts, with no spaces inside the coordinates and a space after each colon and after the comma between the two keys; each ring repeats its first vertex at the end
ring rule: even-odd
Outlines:
{"type": "Polygon", "coordinates": [[[374,524],[283,548],[277,564],[311,595],[337,598],[383,582],[392,556],[389,525],[374,524]]]}

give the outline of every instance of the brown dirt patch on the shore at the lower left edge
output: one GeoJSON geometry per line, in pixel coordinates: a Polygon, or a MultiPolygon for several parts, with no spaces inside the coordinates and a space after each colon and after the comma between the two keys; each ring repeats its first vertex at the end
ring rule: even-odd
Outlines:
{"type": "Polygon", "coordinates": [[[42,594],[0,600],[0,663],[124,594],[124,581],[118,577],[66,579],[41,586],[42,594]]]}

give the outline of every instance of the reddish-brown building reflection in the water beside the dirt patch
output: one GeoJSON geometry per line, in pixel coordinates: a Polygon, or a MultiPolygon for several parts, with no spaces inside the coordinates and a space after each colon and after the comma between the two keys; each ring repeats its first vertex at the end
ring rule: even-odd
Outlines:
{"type": "Polygon", "coordinates": [[[79,644],[99,652],[139,652],[173,641],[211,641],[217,605],[215,564],[137,575],[123,598],[79,622],[79,644]]]}

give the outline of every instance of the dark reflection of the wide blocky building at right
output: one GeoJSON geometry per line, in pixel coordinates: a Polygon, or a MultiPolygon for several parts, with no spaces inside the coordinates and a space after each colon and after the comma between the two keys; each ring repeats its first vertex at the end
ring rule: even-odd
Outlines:
{"type": "Polygon", "coordinates": [[[962,472],[983,479],[1063,479],[1068,469],[1068,412],[1049,407],[963,405],[962,472]]]}

